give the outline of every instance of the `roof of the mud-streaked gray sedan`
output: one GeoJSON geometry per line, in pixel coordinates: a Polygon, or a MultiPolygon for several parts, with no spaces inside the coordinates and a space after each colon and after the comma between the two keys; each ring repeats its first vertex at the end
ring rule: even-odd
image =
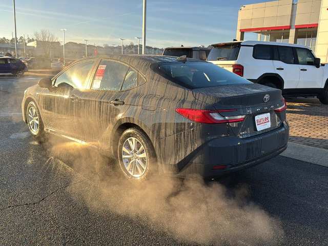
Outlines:
{"type": "MultiPolygon", "coordinates": [[[[79,59],[75,63],[88,59],[113,59],[122,61],[123,63],[130,64],[132,67],[138,69],[141,73],[146,74],[149,67],[152,64],[157,63],[181,63],[181,60],[178,60],[176,56],[166,56],[166,55],[96,55],[88,56],[86,58],[79,59]]],[[[187,58],[187,62],[190,63],[207,63],[205,60],[187,58]]],[[[74,64],[75,64],[74,63],[74,64]]],[[[72,64],[73,65],[73,64],[72,64]]]]}

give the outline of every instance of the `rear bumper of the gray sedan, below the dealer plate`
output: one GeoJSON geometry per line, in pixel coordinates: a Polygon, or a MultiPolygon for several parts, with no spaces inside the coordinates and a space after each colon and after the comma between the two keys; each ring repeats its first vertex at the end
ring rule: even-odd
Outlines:
{"type": "Polygon", "coordinates": [[[214,178],[253,167],[282,153],[288,144],[289,125],[267,133],[240,139],[235,136],[214,138],[199,148],[199,151],[174,176],[200,175],[214,178]],[[226,168],[212,170],[216,166],[226,168]]]}

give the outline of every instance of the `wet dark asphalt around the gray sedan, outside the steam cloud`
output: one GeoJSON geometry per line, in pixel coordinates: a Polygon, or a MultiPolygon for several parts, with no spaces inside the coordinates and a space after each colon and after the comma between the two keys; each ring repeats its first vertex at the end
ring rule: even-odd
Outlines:
{"type": "MultiPolygon", "coordinates": [[[[81,171],[72,163],[82,153],[53,152],[31,136],[20,103],[40,78],[0,75],[0,245],[195,245],[154,221],[102,209],[101,199],[92,209],[72,192],[101,189],[104,170],[81,171]]],[[[212,182],[228,193],[247,187],[247,202],[282,227],[276,245],[328,245],[328,168],[278,156],[212,182]]]]}

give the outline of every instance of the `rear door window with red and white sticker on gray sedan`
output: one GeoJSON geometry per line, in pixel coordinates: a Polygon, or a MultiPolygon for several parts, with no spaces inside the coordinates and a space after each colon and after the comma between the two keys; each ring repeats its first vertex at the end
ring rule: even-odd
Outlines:
{"type": "Polygon", "coordinates": [[[119,91],[129,67],[113,60],[102,60],[94,76],[92,89],[119,91]]]}

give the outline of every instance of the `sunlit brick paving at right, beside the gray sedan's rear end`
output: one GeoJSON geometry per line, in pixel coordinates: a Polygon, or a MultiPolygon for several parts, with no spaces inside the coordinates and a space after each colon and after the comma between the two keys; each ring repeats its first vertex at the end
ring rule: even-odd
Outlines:
{"type": "Polygon", "coordinates": [[[328,105],[317,98],[286,99],[290,142],[328,150],[328,105]]]}

